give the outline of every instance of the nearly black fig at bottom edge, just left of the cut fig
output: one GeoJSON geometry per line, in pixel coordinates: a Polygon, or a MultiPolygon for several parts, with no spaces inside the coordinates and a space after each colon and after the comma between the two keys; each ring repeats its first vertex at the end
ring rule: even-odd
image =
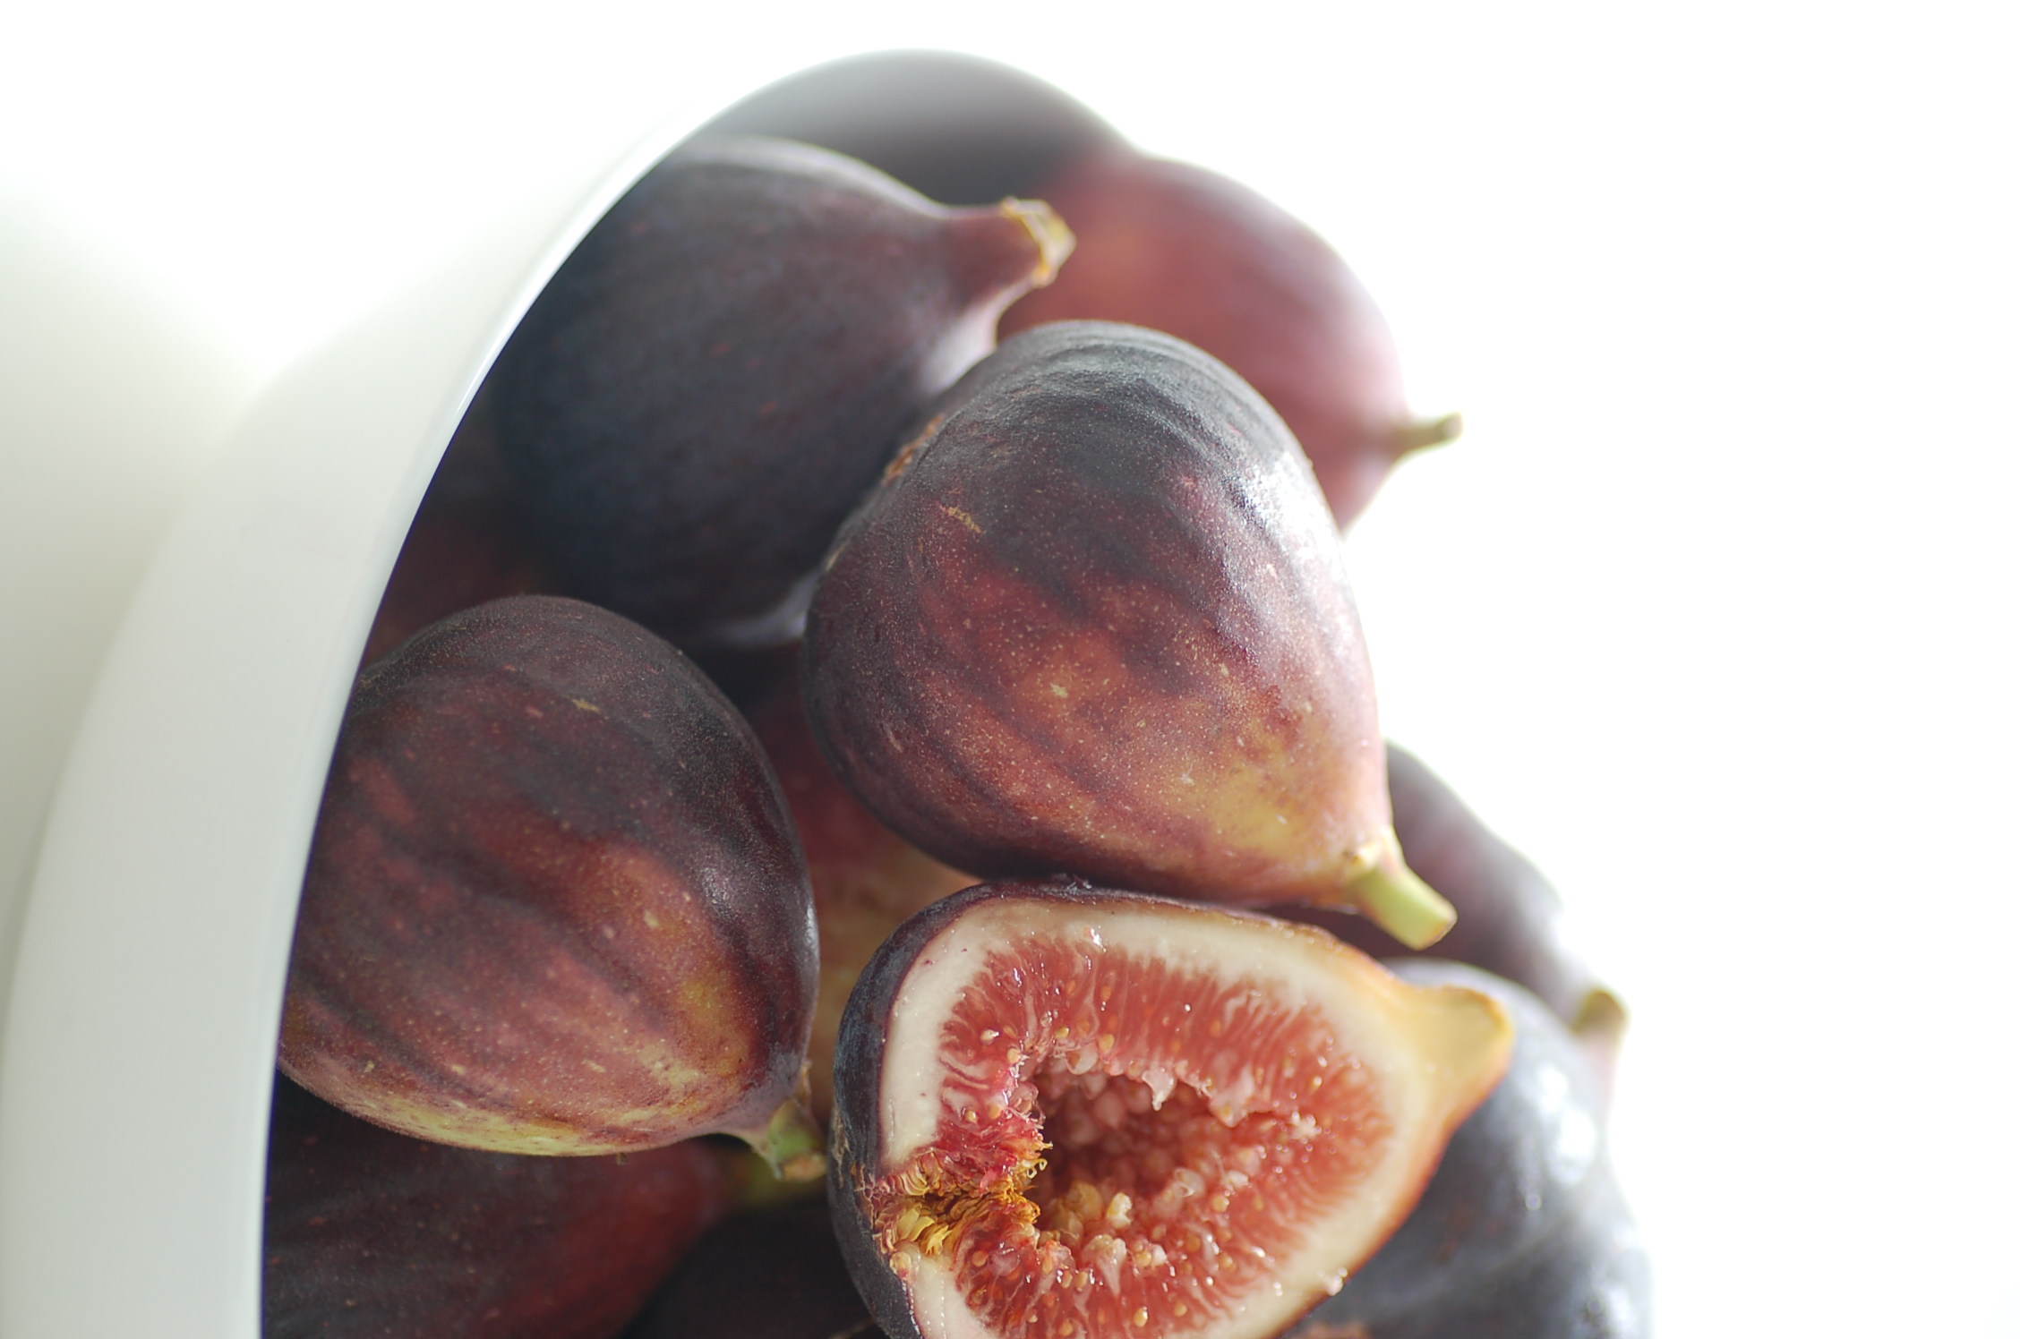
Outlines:
{"type": "Polygon", "coordinates": [[[624,1339],[881,1339],[822,1200],[725,1218],[624,1339]]]}

